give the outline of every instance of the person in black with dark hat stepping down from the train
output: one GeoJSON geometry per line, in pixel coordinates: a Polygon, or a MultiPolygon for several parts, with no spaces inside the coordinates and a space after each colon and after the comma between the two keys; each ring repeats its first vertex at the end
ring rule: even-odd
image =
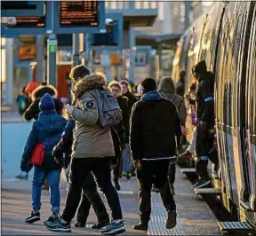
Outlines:
{"type": "MultiPolygon", "coordinates": [[[[197,128],[196,128],[196,173],[198,180],[194,188],[202,188],[211,184],[208,177],[207,164],[210,150],[214,140],[214,75],[207,71],[204,60],[198,62],[193,68],[193,73],[198,80],[196,103],[197,103],[197,128]]],[[[212,159],[212,158],[211,158],[212,159]]],[[[214,164],[218,164],[216,158],[211,160],[214,164]]]]}

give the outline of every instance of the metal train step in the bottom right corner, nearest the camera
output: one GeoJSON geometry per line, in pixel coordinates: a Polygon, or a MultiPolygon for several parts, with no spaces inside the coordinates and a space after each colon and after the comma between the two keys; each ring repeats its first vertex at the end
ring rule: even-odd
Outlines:
{"type": "Polygon", "coordinates": [[[247,222],[240,222],[240,221],[230,221],[230,222],[218,222],[217,223],[220,232],[225,233],[256,233],[255,229],[248,224],[247,222]]]}

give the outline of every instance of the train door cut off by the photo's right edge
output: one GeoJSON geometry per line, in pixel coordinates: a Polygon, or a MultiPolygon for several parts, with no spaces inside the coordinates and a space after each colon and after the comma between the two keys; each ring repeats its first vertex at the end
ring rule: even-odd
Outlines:
{"type": "Polygon", "coordinates": [[[245,97],[245,129],[246,129],[246,160],[248,162],[248,176],[250,181],[249,206],[256,211],[256,4],[252,12],[251,34],[249,39],[246,97],[245,97]]]}

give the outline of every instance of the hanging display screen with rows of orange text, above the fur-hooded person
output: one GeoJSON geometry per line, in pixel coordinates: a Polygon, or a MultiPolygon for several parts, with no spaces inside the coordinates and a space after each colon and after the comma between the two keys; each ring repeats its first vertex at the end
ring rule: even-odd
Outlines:
{"type": "Polygon", "coordinates": [[[99,2],[92,1],[61,1],[60,27],[92,27],[99,26],[99,2]]]}

